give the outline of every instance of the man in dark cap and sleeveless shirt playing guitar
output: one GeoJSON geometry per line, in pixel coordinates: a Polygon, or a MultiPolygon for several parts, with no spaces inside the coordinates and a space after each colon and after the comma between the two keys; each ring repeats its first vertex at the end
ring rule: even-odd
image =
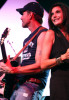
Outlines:
{"type": "MultiPolygon", "coordinates": [[[[22,16],[22,27],[28,28],[31,34],[24,40],[25,45],[42,27],[43,8],[36,2],[30,2],[23,8],[16,9],[22,16]]],[[[21,65],[12,67],[10,60],[0,63],[1,70],[16,74],[17,83],[10,100],[40,100],[46,85],[49,70],[41,72],[40,62],[42,45],[47,29],[38,32],[35,38],[23,51],[21,65]]]]}

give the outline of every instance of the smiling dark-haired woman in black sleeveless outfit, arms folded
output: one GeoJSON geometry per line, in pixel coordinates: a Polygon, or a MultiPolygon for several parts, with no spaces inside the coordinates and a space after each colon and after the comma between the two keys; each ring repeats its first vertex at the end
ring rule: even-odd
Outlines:
{"type": "Polygon", "coordinates": [[[54,4],[49,11],[41,70],[51,69],[50,99],[69,100],[69,7],[54,4]]]}

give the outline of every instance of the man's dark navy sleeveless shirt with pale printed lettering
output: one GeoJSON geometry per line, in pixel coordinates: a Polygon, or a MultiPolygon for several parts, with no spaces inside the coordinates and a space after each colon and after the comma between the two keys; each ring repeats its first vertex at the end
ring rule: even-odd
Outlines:
{"type": "MultiPolygon", "coordinates": [[[[42,26],[40,26],[40,27],[42,27],[42,26]]],[[[40,27],[38,27],[33,33],[31,33],[24,40],[23,45],[25,45],[26,42],[28,42],[30,40],[30,38],[38,31],[38,29],[40,27]]],[[[47,29],[40,30],[39,33],[35,36],[35,38],[29,43],[29,45],[23,51],[23,61],[21,63],[21,66],[26,66],[26,65],[30,65],[30,64],[34,64],[35,63],[35,53],[36,53],[36,48],[37,48],[37,38],[41,34],[41,32],[44,32],[44,31],[47,31],[47,29]]],[[[32,74],[32,75],[20,74],[20,75],[18,75],[18,79],[26,81],[29,78],[37,78],[37,79],[42,81],[42,87],[45,87],[48,74],[49,74],[49,70],[43,71],[42,73],[32,74]]]]}

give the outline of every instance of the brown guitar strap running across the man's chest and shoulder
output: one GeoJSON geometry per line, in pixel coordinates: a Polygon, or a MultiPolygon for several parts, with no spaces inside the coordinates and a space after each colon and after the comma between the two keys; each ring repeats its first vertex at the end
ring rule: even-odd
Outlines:
{"type": "Polygon", "coordinates": [[[12,61],[16,60],[17,57],[21,54],[21,52],[29,45],[29,43],[35,38],[35,36],[40,32],[40,30],[45,29],[44,27],[40,27],[38,31],[33,35],[33,37],[25,44],[25,46],[13,57],[12,61]]]}

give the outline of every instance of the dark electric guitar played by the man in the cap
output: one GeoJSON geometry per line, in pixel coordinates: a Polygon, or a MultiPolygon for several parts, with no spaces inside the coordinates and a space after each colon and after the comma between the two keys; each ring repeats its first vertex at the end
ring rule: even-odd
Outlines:
{"type": "MultiPolygon", "coordinates": [[[[3,56],[3,62],[6,63],[7,61],[7,56],[6,56],[6,50],[5,50],[5,45],[4,45],[4,40],[7,37],[9,32],[9,28],[6,28],[1,36],[1,41],[0,41],[0,45],[1,45],[1,51],[2,51],[2,56],[3,56]]],[[[16,61],[11,61],[11,65],[12,66],[18,66],[18,63],[16,61]]],[[[4,74],[4,77],[2,77],[2,84],[5,83],[5,86],[2,87],[2,93],[4,94],[5,98],[10,98],[12,91],[13,91],[13,86],[15,84],[15,74],[4,74]]]]}

